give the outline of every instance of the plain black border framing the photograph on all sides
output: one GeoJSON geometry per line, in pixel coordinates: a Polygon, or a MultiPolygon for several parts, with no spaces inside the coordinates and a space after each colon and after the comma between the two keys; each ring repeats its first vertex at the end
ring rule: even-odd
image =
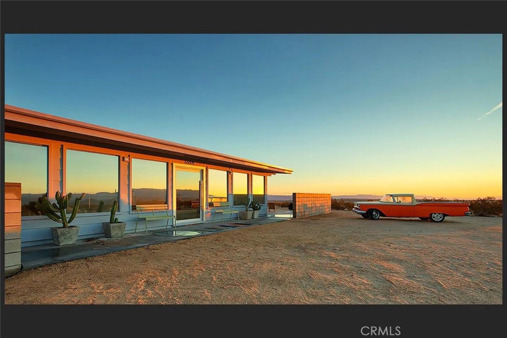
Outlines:
{"type": "MultiPolygon", "coordinates": [[[[501,33],[500,1],[7,1],[0,3],[4,154],[4,44],[7,33],[501,33]]],[[[503,35],[503,53],[505,55],[503,35]]],[[[503,61],[505,69],[505,61],[503,61]]],[[[505,73],[505,70],[503,70],[505,73]]],[[[505,77],[503,77],[505,79],[505,77]]],[[[503,80],[505,88],[505,80],[503,80]]],[[[505,92],[505,90],[503,90],[505,92]]],[[[0,159],[4,196],[4,156],[0,159]]],[[[1,200],[2,208],[4,198],[1,200]]],[[[505,205],[504,205],[505,209],[505,205]]],[[[0,213],[2,227],[4,213],[0,213]]],[[[4,232],[1,233],[2,246],[4,232]]],[[[505,239],[503,239],[505,249],[505,239]]],[[[505,261],[505,250],[503,250],[505,261]]],[[[3,277],[2,270],[2,277],[3,277]]],[[[360,328],[400,326],[409,337],[495,336],[503,305],[395,306],[13,306],[5,305],[3,333],[99,336],[299,333],[363,336],[360,328]],[[113,317],[114,325],[104,318],[113,317]],[[51,319],[57,322],[52,323],[51,319]],[[170,321],[176,321],[172,324],[170,321]],[[56,324],[57,323],[57,324],[56,324]],[[88,324],[88,325],[87,325],[88,324]],[[58,329],[54,330],[58,325],[58,329]],[[170,330],[165,333],[164,331],[170,330]],[[161,331],[163,330],[163,331],[161,331]],[[201,333],[201,332],[199,332],[201,333]],[[197,333],[198,334],[198,333],[197,333]]]]}

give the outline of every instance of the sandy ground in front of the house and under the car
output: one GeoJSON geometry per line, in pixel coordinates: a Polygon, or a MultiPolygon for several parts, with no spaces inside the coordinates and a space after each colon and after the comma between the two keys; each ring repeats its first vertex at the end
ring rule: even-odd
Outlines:
{"type": "Polygon", "coordinates": [[[350,211],[24,271],[5,304],[501,304],[502,218],[350,211]]]}

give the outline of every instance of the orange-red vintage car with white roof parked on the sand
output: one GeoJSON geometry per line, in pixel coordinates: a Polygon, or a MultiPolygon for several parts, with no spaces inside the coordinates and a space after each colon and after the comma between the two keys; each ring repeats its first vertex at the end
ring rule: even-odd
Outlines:
{"type": "Polygon", "coordinates": [[[356,202],[352,211],[365,218],[419,217],[441,222],[445,217],[470,216],[468,203],[417,202],[414,194],[387,194],[375,202],[356,202]]]}

